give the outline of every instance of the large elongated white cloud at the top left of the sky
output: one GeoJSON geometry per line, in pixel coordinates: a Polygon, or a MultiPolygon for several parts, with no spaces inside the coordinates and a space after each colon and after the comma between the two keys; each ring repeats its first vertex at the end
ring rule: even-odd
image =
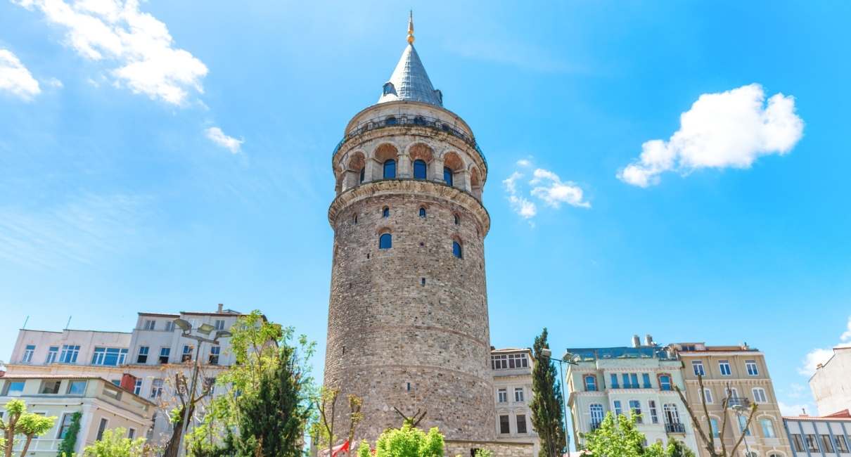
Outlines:
{"type": "Polygon", "coordinates": [[[13,1],[65,28],[66,44],[78,54],[108,62],[115,85],[173,105],[182,105],[190,91],[203,93],[207,66],[174,48],[166,25],[140,12],[138,0],[13,1]]]}

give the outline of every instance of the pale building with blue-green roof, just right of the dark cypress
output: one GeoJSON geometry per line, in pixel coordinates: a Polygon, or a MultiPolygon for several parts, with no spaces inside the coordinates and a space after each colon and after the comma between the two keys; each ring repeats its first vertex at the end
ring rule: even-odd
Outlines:
{"type": "Polygon", "coordinates": [[[675,386],[685,388],[676,353],[654,344],[648,335],[641,345],[568,348],[573,362],[566,386],[574,443],[585,445],[584,434],[597,429],[606,414],[635,414],[637,429],[648,444],[683,442],[697,452],[697,441],[675,386]]]}

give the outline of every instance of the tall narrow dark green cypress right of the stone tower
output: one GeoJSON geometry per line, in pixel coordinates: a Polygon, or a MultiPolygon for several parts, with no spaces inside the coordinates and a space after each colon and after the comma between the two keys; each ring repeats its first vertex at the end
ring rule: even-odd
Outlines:
{"type": "Polygon", "coordinates": [[[561,391],[561,380],[556,374],[556,367],[542,351],[549,349],[546,341],[546,328],[540,336],[534,339],[532,351],[534,365],[532,367],[532,428],[540,437],[540,457],[556,457],[563,454],[566,446],[562,412],[564,403],[561,391]]]}

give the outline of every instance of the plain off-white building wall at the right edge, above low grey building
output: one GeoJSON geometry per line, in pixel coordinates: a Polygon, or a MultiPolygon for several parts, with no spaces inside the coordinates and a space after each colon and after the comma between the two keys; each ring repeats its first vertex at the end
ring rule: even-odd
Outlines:
{"type": "Polygon", "coordinates": [[[815,368],[809,379],[819,414],[851,408],[851,346],[833,348],[833,356],[815,368]]]}

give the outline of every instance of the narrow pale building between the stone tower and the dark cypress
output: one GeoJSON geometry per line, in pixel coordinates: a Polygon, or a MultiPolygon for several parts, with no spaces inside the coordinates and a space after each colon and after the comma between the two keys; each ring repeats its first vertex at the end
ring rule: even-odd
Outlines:
{"type": "Polygon", "coordinates": [[[492,349],[497,441],[533,443],[538,455],[540,439],[532,429],[532,351],[521,348],[492,349]]]}

